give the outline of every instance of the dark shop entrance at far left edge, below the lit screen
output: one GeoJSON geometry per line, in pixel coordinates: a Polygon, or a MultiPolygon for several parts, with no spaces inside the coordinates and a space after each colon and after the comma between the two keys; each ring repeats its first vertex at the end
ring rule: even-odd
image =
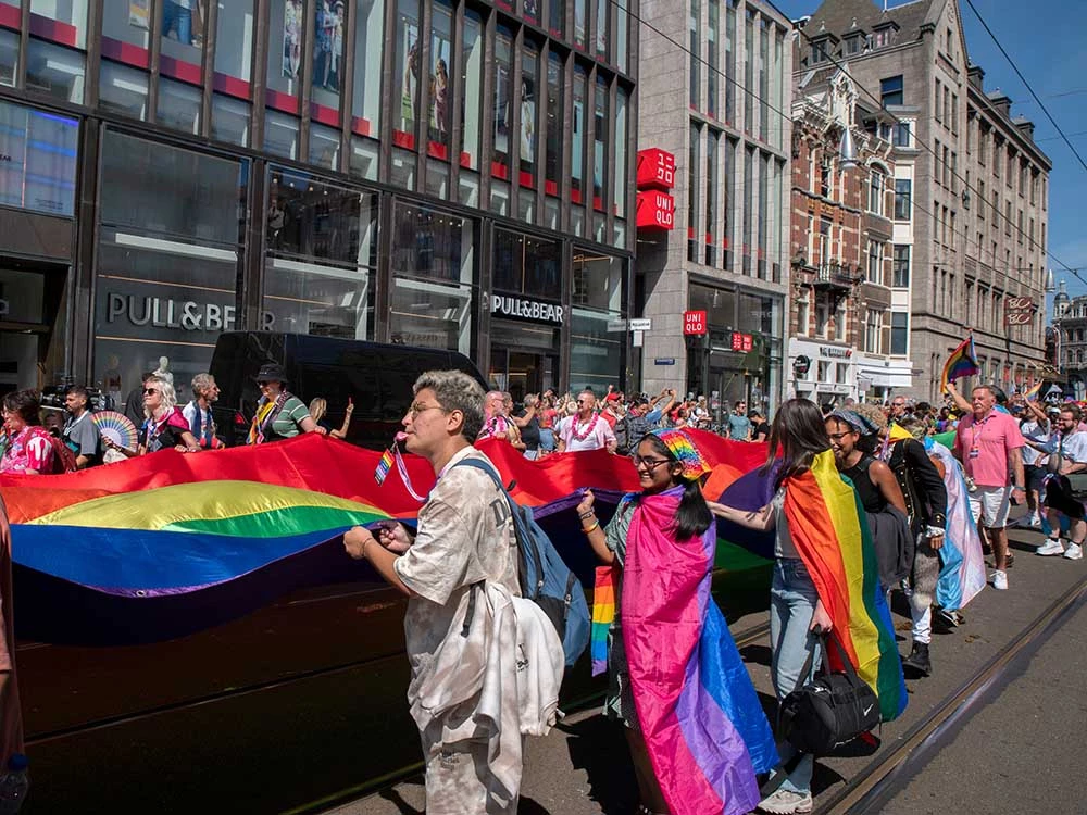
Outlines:
{"type": "Polygon", "coordinates": [[[53,384],[50,346],[63,291],[63,271],[0,265],[0,393],[53,384]]]}

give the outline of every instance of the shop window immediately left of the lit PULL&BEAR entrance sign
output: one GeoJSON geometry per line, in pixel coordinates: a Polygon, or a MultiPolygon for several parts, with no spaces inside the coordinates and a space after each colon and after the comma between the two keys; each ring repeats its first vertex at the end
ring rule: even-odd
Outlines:
{"type": "Polygon", "coordinates": [[[472,351],[472,221],[397,204],[392,237],[392,341],[472,351]]]}

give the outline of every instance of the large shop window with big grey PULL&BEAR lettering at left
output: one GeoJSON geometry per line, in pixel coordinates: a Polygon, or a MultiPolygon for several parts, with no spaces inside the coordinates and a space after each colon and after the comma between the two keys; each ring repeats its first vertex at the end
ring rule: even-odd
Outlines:
{"type": "Polygon", "coordinates": [[[237,327],[247,167],[105,131],[95,381],[123,394],[166,356],[178,401],[191,398],[216,337],[237,327]]]}

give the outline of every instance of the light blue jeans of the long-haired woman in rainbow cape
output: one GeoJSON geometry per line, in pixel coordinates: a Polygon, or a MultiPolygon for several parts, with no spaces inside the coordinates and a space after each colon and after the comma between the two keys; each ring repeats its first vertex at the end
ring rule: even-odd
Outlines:
{"type": "MultiPolygon", "coordinates": [[[[774,561],[774,581],[770,590],[770,670],[778,702],[796,690],[808,654],[815,654],[811,674],[819,666],[819,639],[809,630],[816,602],[819,594],[803,562],[785,557],[774,561]]],[[[809,679],[811,676],[804,677],[800,685],[809,679]]],[[[787,742],[778,743],[777,751],[783,764],[796,755],[796,750],[787,742]]],[[[814,766],[815,757],[804,755],[782,789],[810,792],[814,766]]]]}

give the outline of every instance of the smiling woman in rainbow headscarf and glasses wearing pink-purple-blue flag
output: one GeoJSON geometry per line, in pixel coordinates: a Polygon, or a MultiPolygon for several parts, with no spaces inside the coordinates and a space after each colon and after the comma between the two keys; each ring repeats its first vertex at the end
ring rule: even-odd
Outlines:
{"type": "MultiPolygon", "coordinates": [[[[594,553],[614,569],[615,617],[608,632],[604,714],[624,725],[641,798],[638,813],[675,812],[669,801],[676,800],[687,801],[691,812],[712,811],[710,802],[692,800],[708,786],[705,779],[677,772],[680,763],[674,757],[667,712],[683,693],[691,665],[727,666],[733,660],[739,667],[724,670],[728,679],[721,684],[732,704],[722,702],[721,710],[749,712],[747,727],[736,722],[730,723],[735,730],[726,727],[721,710],[714,711],[716,717],[710,715],[713,705],[701,697],[685,715],[707,728],[707,764],[730,767],[736,795],[730,804],[737,811],[753,810],[759,802],[754,775],[773,768],[777,753],[724,616],[709,599],[716,528],[699,485],[710,467],[690,437],[671,428],[642,436],[633,461],[641,492],[625,496],[605,526],[596,515],[591,490],[585,491],[577,514],[594,553]],[[703,630],[720,634],[691,637],[689,625],[675,623],[689,624],[691,617],[703,630]],[[726,732],[742,738],[728,739],[726,732]],[[737,742],[742,742],[740,750],[737,742]]],[[[716,806],[720,810],[720,801],[716,806]]]]}

